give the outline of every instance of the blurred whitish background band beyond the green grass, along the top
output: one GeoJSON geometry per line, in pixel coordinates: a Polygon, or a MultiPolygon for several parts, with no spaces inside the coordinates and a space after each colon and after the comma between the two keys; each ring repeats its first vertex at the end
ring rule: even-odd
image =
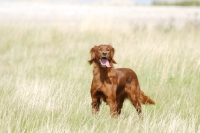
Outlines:
{"type": "MultiPolygon", "coordinates": [[[[199,25],[199,0],[4,0],[0,2],[1,23],[131,24],[182,27],[199,25]]],[[[97,24],[98,25],[98,24],[97,24]]]]}

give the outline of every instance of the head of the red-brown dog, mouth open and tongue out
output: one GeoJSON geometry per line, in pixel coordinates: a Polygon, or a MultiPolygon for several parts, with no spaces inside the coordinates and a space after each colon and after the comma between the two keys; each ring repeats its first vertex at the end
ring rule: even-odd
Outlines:
{"type": "Polygon", "coordinates": [[[112,67],[112,63],[116,64],[113,59],[115,49],[110,45],[102,44],[94,46],[90,50],[91,59],[88,61],[90,64],[98,62],[101,67],[112,67]]]}

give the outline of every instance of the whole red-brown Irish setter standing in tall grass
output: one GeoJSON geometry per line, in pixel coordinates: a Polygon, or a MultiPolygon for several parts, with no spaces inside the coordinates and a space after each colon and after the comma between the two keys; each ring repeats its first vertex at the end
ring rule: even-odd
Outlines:
{"type": "Polygon", "coordinates": [[[91,85],[92,112],[98,113],[103,100],[110,106],[111,117],[120,115],[123,102],[130,99],[139,116],[142,104],[155,104],[140,89],[137,75],[129,68],[113,68],[116,61],[113,59],[115,49],[111,45],[102,44],[90,50],[94,65],[91,85]]]}

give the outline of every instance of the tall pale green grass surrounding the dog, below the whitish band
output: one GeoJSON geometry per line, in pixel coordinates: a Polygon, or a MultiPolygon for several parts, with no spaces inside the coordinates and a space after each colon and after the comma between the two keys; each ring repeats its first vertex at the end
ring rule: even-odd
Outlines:
{"type": "Polygon", "coordinates": [[[0,25],[1,132],[200,132],[200,29],[102,27],[0,25]],[[128,101],[120,118],[105,104],[91,114],[87,60],[101,43],[155,100],[142,106],[144,120],[128,101]]]}

